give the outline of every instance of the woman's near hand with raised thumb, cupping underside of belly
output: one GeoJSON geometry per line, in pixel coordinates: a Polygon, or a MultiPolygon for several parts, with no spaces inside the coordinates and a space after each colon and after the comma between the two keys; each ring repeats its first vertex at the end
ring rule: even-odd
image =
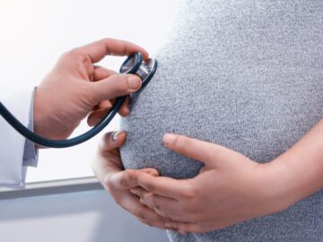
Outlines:
{"type": "MultiPolygon", "coordinates": [[[[284,190],[284,169],[258,164],[214,143],[165,134],[164,144],[205,164],[194,178],[177,180],[149,174],[130,177],[130,191],[181,232],[205,232],[284,210],[292,203],[284,190]]],[[[131,174],[130,174],[131,175],[131,174]]]]}

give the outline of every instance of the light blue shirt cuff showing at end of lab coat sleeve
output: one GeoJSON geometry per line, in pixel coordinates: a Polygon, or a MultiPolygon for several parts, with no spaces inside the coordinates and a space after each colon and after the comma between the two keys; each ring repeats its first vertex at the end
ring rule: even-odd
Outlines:
{"type": "MultiPolygon", "coordinates": [[[[29,112],[29,123],[28,128],[33,132],[34,131],[34,122],[33,122],[33,114],[34,114],[34,98],[35,98],[35,91],[32,92],[31,96],[31,108],[29,112]]],[[[26,139],[24,150],[23,150],[23,157],[22,157],[22,166],[24,167],[37,167],[38,164],[38,150],[35,147],[35,143],[32,143],[30,140],[26,139]]],[[[26,176],[26,169],[23,171],[24,174],[22,174],[22,177],[26,176]]],[[[24,178],[23,178],[24,180],[24,178]]]]}

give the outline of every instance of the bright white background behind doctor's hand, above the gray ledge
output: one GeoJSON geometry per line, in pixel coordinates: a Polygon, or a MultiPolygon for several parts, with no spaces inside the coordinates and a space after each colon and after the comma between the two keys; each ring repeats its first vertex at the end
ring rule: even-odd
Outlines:
{"type": "MultiPolygon", "coordinates": [[[[32,89],[61,53],[106,37],[135,42],[153,56],[177,5],[174,0],[0,0],[0,89],[32,89]]],[[[117,71],[122,61],[107,57],[100,65],[117,71]]],[[[87,129],[83,123],[74,135],[87,129]]],[[[118,129],[118,120],[103,132],[111,129],[118,129]]],[[[41,150],[39,167],[29,169],[27,181],[92,176],[91,160],[102,134],[74,148],[41,150]]]]}

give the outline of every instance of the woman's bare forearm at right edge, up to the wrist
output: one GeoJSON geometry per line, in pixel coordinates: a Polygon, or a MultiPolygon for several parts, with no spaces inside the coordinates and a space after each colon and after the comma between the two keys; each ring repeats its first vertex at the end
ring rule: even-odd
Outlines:
{"type": "Polygon", "coordinates": [[[323,188],[323,119],[273,163],[280,169],[281,192],[292,204],[323,188]]]}

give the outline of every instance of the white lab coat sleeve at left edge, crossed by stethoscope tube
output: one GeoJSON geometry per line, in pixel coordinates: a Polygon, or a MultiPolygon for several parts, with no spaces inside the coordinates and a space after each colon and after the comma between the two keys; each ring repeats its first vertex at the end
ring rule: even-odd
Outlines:
{"type": "MultiPolygon", "coordinates": [[[[31,91],[19,91],[14,95],[0,96],[4,106],[30,129],[33,129],[33,94],[31,91]]],[[[34,144],[26,141],[0,116],[0,186],[25,186],[27,167],[36,167],[37,160],[34,144]]]]}

